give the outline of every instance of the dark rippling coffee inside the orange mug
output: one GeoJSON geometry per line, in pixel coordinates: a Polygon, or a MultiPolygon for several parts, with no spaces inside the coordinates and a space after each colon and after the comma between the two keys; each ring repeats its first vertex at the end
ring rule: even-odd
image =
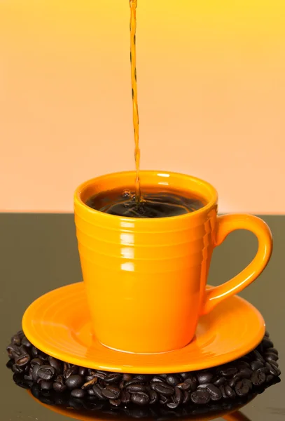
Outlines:
{"type": "Polygon", "coordinates": [[[110,215],[129,218],[166,218],[194,212],[207,202],[192,192],[141,186],[141,200],[134,188],[116,188],[90,196],[85,204],[110,215]]]}

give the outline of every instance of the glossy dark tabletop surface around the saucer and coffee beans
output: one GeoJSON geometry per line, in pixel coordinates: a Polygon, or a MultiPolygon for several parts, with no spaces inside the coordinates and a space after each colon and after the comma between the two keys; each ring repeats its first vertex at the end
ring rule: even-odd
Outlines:
{"type": "MultiPolygon", "coordinates": [[[[279,366],[285,370],[285,215],[262,216],[274,239],[274,250],[265,272],[241,294],[263,314],[279,366]]],[[[3,421],[67,420],[70,417],[35,401],[17,387],[6,368],[6,346],[21,328],[27,306],[43,293],[81,281],[73,215],[0,214],[0,316],[1,316],[1,406],[3,421]]],[[[257,241],[249,232],[235,232],[214,251],[209,283],[217,285],[240,272],[256,253],[257,241]]],[[[282,379],[282,376],[281,376],[282,379]]],[[[285,383],[279,382],[228,420],[281,421],[285,419],[285,383]]],[[[71,410],[72,413],[72,410],[71,410]]],[[[217,416],[217,415],[216,415],[217,416]]],[[[208,419],[216,419],[216,416],[208,419]]],[[[81,420],[80,415],[73,415],[81,420]]],[[[106,419],[106,415],[104,415],[106,419]]],[[[95,420],[100,416],[96,415],[95,420]]],[[[103,419],[103,415],[102,415],[103,419]]],[[[113,419],[111,417],[111,419],[113,419]]],[[[185,418],[184,418],[185,419],[185,418]]],[[[193,419],[193,418],[191,418],[193,419]]],[[[223,418],[218,418],[223,419],[223,418]]]]}

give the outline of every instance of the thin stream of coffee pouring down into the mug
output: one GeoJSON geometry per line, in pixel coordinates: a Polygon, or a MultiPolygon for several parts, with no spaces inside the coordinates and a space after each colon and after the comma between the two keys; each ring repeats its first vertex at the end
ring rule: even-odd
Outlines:
{"type": "Polygon", "coordinates": [[[139,108],[137,105],[137,51],[136,51],[136,31],[137,31],[137,0],[130,0],[130,60],[132,76],[132,119],[134,124],[134,159],[136,163],[136,202],[141,201],[141,182],[139,180],[139,108]]]}

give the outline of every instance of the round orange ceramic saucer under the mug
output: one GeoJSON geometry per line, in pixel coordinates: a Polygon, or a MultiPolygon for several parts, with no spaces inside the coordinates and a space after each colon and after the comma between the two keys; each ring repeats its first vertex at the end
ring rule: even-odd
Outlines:
{"type": "Polygon", "coordinates": [[[200,318],[195,339],[187,347],[165,354],[114,351],[92,335],[83,282],[58,288],[34,301],[24,314],[22,328],[33,345],[57,359],[97,370],[139,374],[218,366],[250,352],[265,333],[258,310],[233,296],[200,318]]]}

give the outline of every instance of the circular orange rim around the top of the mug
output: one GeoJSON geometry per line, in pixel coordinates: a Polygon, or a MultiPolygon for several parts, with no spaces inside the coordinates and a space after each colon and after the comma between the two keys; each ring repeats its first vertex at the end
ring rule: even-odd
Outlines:
{"type": "Polygon", "coordinates": [[[80,185],[78,185],[78,187],[76,187],[76,190],[74,192],[74,202],[76,203],[77,206],[80,206],[83,210],[88,211],[89,214],[91,215],[97,215],[100,216],[101,218],[109,218],[110,222],[111,221],[124,221],[124,222],[135,222],[135,223],[139,223],[139,224],[151,224],[151,223],[157,223],[158,220],[161,221],[167,221],[167,220],[183,220],[186,218],[193,218],[196,215],[201,215],[202,213],[207,212],[208,210],[210,210],[211,208],[213,208],[217,201],[218,201],[218,192],[215,189],[215,187],[213,185],[211,185],[209,182],[202,180],[202,178],[197,178],[194,175],[188,175],[188,174],[184,174],[184,173],[178,173],[175,171],[161,171],[161,170],[140,170],[139,171],[140,174],[151,174],[153,173],[153,175],[155,174],[169,174],[169,175],[177,175],[177,176],[182,176],[182,177],[186,177],[189,178],[191,180],[194,180],[195,182],[197,182],[200,185],[204,185],[205,187],[207,187],[210,191],[211,191],[211,200],[209,200],[207,202],[207,204],[205,206],[203,206],[200,209],[194,210],[193,212],[190,213],[184,213],[183,215],[175,215],[175,216],[165,216],[163,218],[134,218],[134,217],[130,217],[130,216],[119,216],[119,215],[111,215],[110,213],[104,213],[101,212],[101,210],[97,210],[97,209],[93,209],[90,208],[90,206],[86,205],[86,203],[84,203],[84,201],[81,199],[81,194],[83,192],[83,190],[92,185],[92,183],[94,183],[95,181],[99,181],[99,180],[104,180],[104,178],[108,178],[110,176],[123,176],[123,175],[131,175],[133,174],[134,177],[136,175],[136,171],[118,171],[115,173],[106,173],[104,175],[98,175],[95,178],[90,178],[89,180],[86,180],[85,182],[82,182],[80,185]]]}

